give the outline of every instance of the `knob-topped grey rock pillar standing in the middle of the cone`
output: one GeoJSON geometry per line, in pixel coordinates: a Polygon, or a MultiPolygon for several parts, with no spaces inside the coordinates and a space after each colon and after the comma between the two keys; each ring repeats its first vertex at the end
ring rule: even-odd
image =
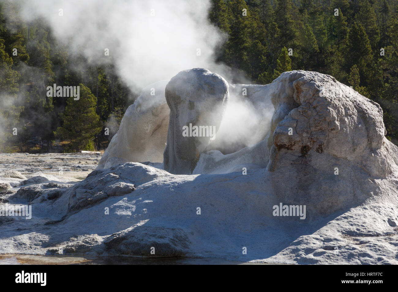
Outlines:
{"type": "Polygon", "coordinates": [[[228,83],[203,68],[181,71],[167,84],[166,101],[170,120],[163,154],[164,170],[191,174],[200,153],[205,151],[210,139],[215,139],[228,103],[228,83]],[[194,127],[197,127],[196,135],[194,127]]]}

